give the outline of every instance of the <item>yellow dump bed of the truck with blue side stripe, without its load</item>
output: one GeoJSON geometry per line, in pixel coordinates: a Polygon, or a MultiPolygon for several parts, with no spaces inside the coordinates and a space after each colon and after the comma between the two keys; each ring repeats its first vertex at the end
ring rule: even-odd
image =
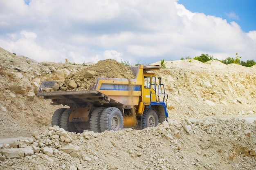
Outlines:
{"type": "Polygon", "coordinates": [[[135,79],[101,78],[96,81],[95,86],[90,90],[82,91],[52,91],[43,92],[43,88],[54,85],[54,81],[43,81],[38,90],[37,96],[44,99],[52,99],[54,104],[94,104],[111,105],[128,108],[137,105],[141,95],[140,85],[135,79]]]}

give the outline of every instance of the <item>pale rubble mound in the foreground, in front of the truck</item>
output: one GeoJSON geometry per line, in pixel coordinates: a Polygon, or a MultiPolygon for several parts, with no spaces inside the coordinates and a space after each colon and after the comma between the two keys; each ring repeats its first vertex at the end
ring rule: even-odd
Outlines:
{"type": "Polygon", "coordinates": [[[238,118],[164,121],[154,128],[101,133],[58,126],[4,144],[4,169],[255,169],[256,121],[238,118]],[[198,139],[195,142],[195,138],[198,139]],[[90,168],[89,168],[90,167],[90,168]]]}

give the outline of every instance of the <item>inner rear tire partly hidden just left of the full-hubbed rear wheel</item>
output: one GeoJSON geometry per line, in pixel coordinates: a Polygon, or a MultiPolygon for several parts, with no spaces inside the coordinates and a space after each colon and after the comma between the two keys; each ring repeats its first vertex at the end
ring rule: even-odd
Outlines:
{"type": "Polygon", "coordinates": [[[101,117],[101,113],[104,110],[104,107],[95,108],[90,117],[90,130],[94,132],[101,132],[101,128],[99,126],[99,119],[101,117]]]}

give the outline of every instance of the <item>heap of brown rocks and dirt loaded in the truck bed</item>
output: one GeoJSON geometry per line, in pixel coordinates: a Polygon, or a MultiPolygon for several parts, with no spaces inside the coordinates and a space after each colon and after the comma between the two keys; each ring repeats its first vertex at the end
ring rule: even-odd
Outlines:
{"type": "Polygon", "coordinates": [[[43,91],[81,91],[92,88],[98,77],[133,79],[135,75],[130,68],[116,60],[100,60],[97,64],[70,73],[64,81],[59,81],[52,88],[43,91]]]}

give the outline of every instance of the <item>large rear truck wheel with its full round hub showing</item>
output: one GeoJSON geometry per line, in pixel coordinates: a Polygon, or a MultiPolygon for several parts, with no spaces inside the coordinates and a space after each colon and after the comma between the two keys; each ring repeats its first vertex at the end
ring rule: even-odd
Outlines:
{"type": "Polygon", "coordinates": [[[124,117],[116,107],[105,108],[100,117],[101,132],[105,130],[117,131],[124,128],[124,117]]]}

